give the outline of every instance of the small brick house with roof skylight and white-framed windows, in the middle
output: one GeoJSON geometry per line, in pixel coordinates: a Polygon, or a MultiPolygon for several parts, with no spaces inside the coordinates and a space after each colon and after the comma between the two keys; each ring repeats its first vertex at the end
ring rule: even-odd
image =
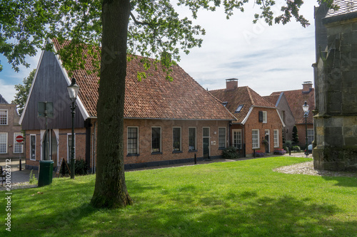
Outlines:
{"type": "Polygon", "coordinates": [[[210,90],[237,118],[229,127],[231,146],[251,156],[253,149],[273,153],[283,147],[284,123],[277,108],[248,86],[238,87],[238,79],[227,79],[226,89],[210,90]]]}

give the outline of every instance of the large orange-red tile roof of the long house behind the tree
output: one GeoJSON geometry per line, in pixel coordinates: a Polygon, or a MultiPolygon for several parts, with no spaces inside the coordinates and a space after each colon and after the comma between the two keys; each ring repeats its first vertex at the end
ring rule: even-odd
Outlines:
{"type": "MultiPolygon", "coordinates": [[[[53,40],[58,50],[59,42],[53,40]]],[[[133,57],[127,63],[124,117],[154,118],[181,120],[235,120],[226,108],[216,98],[213,98],[190,75],[178,65],[171,72],[173,81],[166,80],[166,73],[151,66],[144,70],[142,57],[133,57]],[[138,72],[145,72],[147,78],[139,82],[138,72]]],[[[154,62],[153,59],[149,60],[154,62]]],[[[84,104],[89,116],[96,117],[96,102],[98,101],[99,77],[86,70],[94,69],[91,58],[86,58],[83,70],[76,70],[73,77],[81,87],[79,98],[84,104]]]]}

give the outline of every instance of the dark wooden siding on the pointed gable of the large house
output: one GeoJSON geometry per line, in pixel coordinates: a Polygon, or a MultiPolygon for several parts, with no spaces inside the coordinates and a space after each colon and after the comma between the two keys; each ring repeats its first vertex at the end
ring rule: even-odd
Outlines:
{"type": "MultiPolygon", "coordinates": [[[[38,102],[53,102],[54,117],[48,119],[49,129],[71,128],[68,83],[54,53],[45,51],[22,121],[23,130],[45,129],[44,117],[38,117],[38,102]]],[[[74,127],[84,127],[84,117],[76,108],[74,127]]]]}

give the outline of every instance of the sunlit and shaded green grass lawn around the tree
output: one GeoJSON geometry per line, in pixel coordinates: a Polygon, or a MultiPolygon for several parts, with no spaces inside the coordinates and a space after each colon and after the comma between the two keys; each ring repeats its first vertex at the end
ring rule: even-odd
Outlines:
{"type": "MultiPolygon", "coordinates": [[[[357,236],[357,178],[281,174],[270,157],[126,172],[135,204],[89,205],[93,175],[14,190],[6,236],[357,236]]],[[[5,196],[1,191],[0,196],[5,196]]],[[[4,198],[0,209],[5,209],[4,198]]],[[[4,213],[4,211],[1,211],[4,213]]],[[[4,220],[5,214],[1,214],[4,220]]]]}

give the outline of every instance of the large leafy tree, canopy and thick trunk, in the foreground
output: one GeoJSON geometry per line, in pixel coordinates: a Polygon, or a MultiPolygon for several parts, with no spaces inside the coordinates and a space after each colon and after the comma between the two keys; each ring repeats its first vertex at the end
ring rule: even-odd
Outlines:
{"type": "MultiPolygon", "coordinates": [[[[178,0],[177,4],[188,7],[193,19],[198,17],[199,9],[215,11],[217,7],[222,7],[229,18],[234,11],[244,11],[248,1],[178,0]]],[[[273,15],[275,1],[251,1],[260,6],[256,20],[264,19],[271,25],[296,19],[303,27],[308,26],[299,13],[302,0],[286,0],[280,16],[273,15]]],[[[34,56],[36,48],[53,50],[51,43],[45,43],[48,38],[57,38],[59,43],[70,41],[57,52],[69,72],[84,68],[85,48],[94,57],[100,84],[96,187],[91,203],[99,208],[131,204],[123,152],[127,55],[156,58],[165,65],[169,77],[169,68],[180,59],[180,51],[189,53],[191,48],[201,46],[204,29],[188,16],[179,16],[169,0],[3,0],[0,12],[0,53],[16,71],[19,65],[29,67],[26,56],[34,56]],[[99,62],[96,50],[100,48],[99,62]]],[[[147,61],[143,63],[151,66],[147,61]]]]}

